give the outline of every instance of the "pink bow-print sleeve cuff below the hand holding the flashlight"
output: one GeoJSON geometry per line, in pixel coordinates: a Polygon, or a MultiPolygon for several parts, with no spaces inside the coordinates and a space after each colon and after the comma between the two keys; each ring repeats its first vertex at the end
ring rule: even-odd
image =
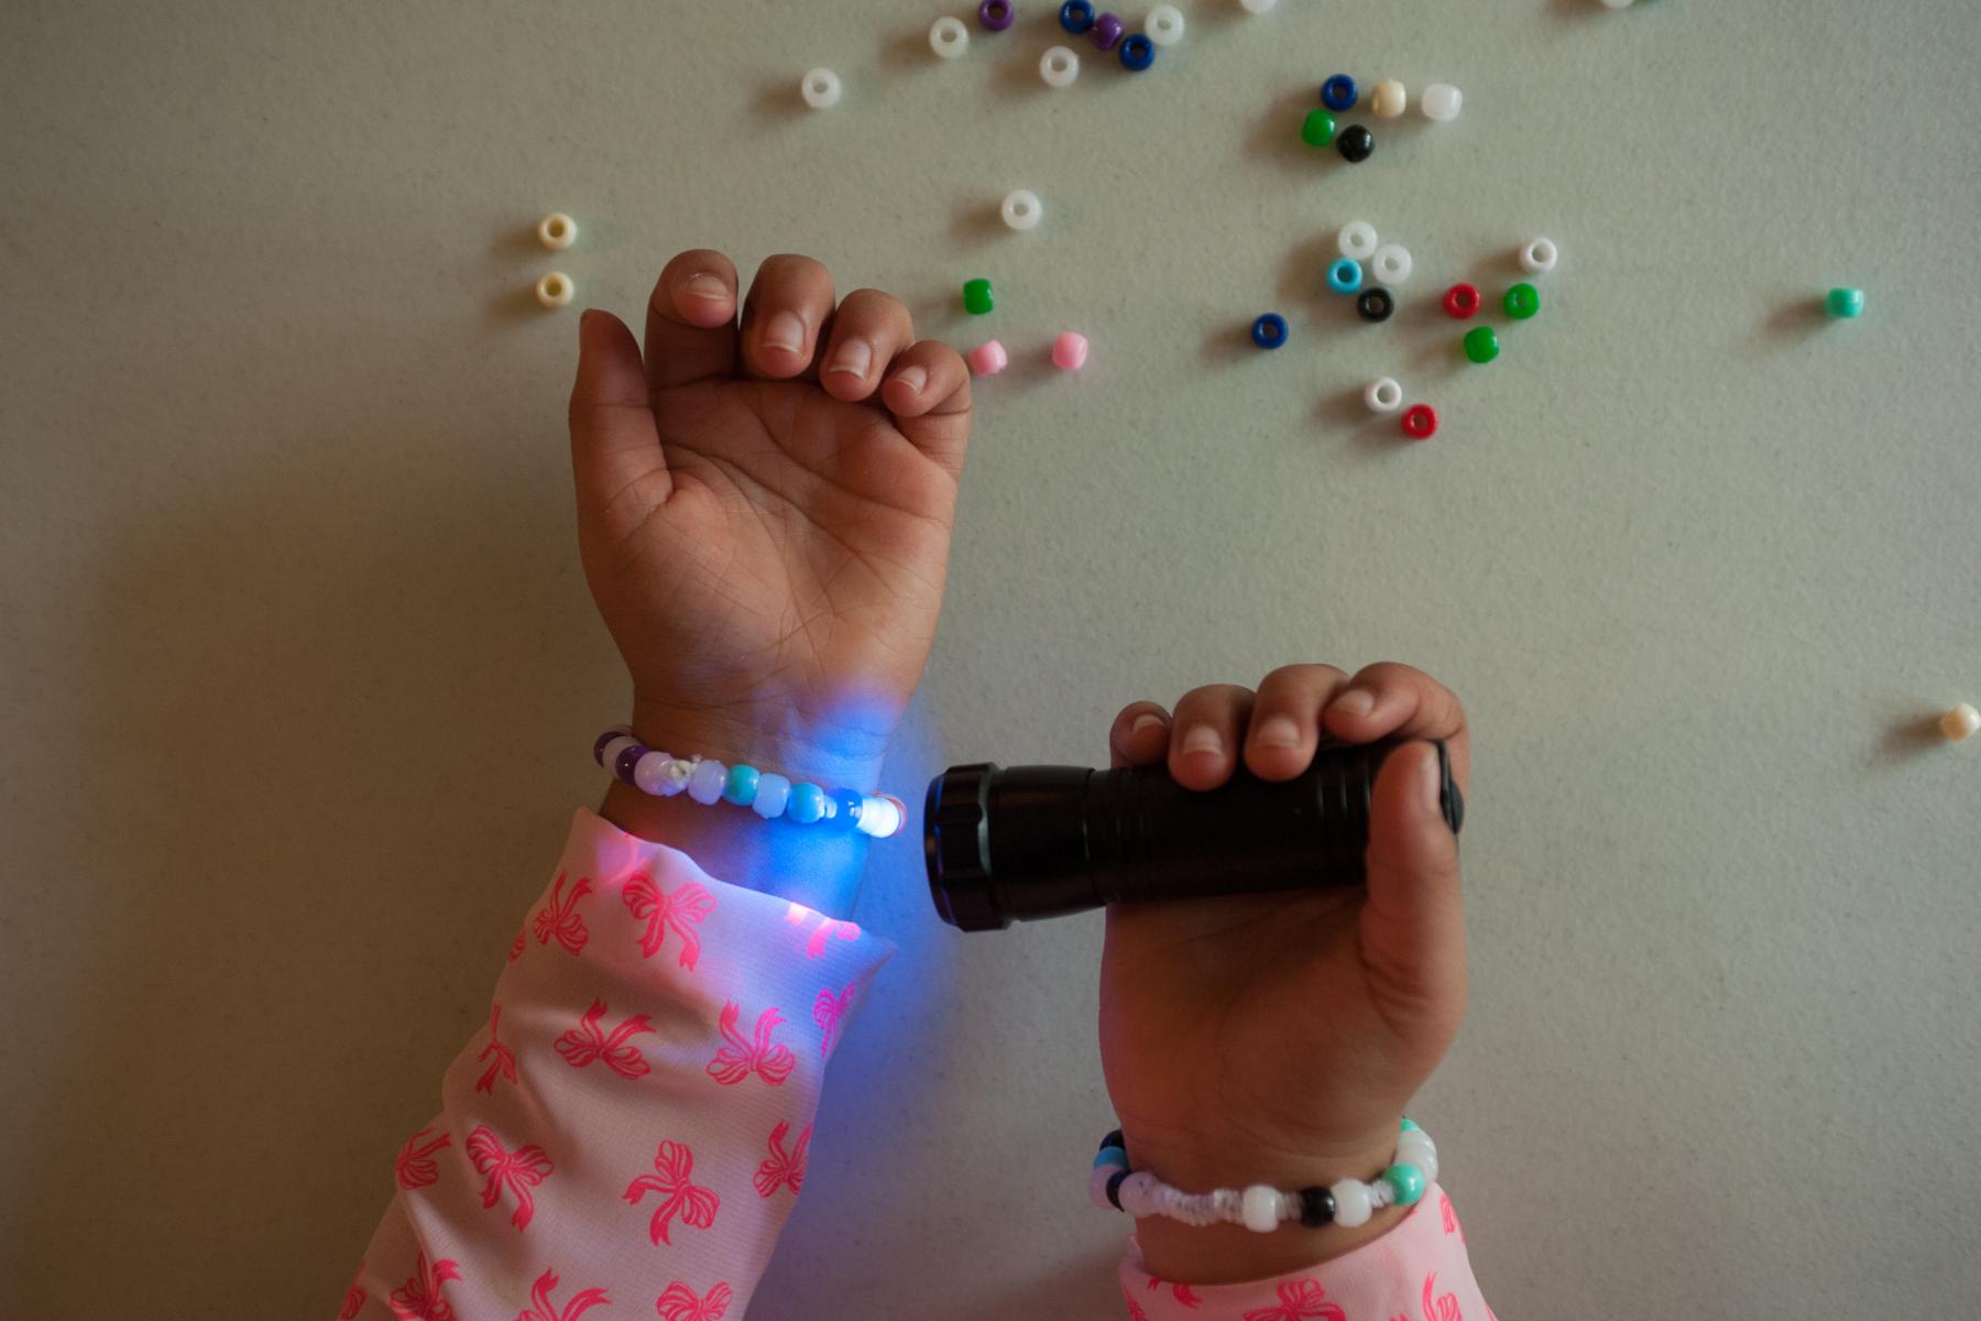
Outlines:
{"type": "Polygon", "coordinates": [[[1131,1321],[1494,1321],[1472,1277],[1464,1226],[1438,1184],[1383,1238],[1278,1279],[1157,1279],[1129,1236],[1121,1293],[1131,1321]]]}

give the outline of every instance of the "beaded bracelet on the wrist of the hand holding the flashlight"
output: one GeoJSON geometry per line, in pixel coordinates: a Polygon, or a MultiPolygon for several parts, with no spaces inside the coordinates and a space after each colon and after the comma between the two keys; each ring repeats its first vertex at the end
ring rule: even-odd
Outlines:
{"type": "Polygon", "coordinates": [[[1121,1129],[1101,1139],[1088,1176],[1088,1198],[1107,1210],[1123,1210],[1137,1220],[1169,1216],[1191,1226],[1218,1222],[1242,1224],[1270,1234],[1282,1220],[1300,1220],[1315,1230],[1323,1224],[1355,1228],[1385,1206],[1410,1206],[1438,1176],[1438,1149],[1430,1135],[1408,1119],[1397,1133],[1397,1161],[1373,1182],[1341,1178],[1331,1186],[1280,1192],[1270,1184],[1250,1188],[1218,1188],[1216,1192],[1185,1192],[1171,1188],[1147,1170],[1131,1170],[1121,1129]]]}

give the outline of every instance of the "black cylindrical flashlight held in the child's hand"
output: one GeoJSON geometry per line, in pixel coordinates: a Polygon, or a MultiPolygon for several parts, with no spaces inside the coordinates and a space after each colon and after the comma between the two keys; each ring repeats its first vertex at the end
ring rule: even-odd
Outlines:
{"type": "MultiPolygon", "coordinates": [[[[1062,917],[1107,903],[1199,899],[1363,883],[1369,796],[1405,741],[1323,747],[1292,780],[1240,762],[1212,790],[1169,764],[951,766],[929,780],[921,854],[943,921],[963,931],[1062,917]]],[[[1464,798],[1436,741],[1438,802],[1452,834],[1464,798]]]]}

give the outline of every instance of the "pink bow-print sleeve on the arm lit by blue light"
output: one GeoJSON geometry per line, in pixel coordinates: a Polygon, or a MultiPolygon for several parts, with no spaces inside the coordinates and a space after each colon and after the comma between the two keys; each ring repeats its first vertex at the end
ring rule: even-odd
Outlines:
{"type": "Polygon", "coordinates": [[[739,1321],[893,945],[578,808],[341,1321],[739,1321]]]}

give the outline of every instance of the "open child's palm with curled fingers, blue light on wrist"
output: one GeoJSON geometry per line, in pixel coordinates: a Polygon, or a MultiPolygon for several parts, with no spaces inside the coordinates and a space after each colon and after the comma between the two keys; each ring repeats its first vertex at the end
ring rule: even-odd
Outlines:
{"type": "Polygon", "coordinates": [[[943,602],[971,430],[963,358],[810,257],[683,252],[646,315],[578,329],[571,448],[584,576],[634,733],[870,792],[943,602]]]}

